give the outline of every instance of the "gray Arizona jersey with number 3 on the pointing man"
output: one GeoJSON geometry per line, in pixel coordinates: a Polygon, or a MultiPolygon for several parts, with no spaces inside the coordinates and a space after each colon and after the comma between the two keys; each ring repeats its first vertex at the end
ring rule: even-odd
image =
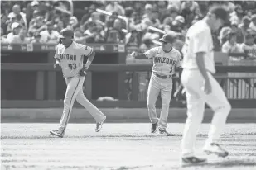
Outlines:
{"type": "Polygon", "coordinates": [[[181,53],[173,47],[166,53],[162,50],[162,46],[158,46],[147,50],[144,54],[147,59],[153,58],[153,73],[168,76],[175,73],[175,67],[181,68],[181,53]]]}

